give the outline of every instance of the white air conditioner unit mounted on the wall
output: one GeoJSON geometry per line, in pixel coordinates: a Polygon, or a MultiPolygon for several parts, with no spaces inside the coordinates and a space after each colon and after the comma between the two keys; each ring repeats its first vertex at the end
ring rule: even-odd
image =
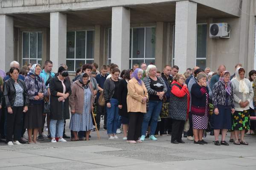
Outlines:
{"type": "Polygon", "coordinates": [[[210,24],[210,37],[230,38],[230,26],[227,23],[212,23],[210,24]]]}

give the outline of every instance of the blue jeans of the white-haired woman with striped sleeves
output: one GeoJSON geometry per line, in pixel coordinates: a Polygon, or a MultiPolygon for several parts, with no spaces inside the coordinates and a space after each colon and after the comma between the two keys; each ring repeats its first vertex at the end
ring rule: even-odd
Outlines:
{"type": "Polygon", "coordinates": [[[154,135],[157,128],[157,118],[162,109],[162,101],[149,101],[148,111],[143,116],[143,123],[141,128],[141,135],[146,135],[148,129],[148,122],[151,119],[150,135],[154,135]]]}

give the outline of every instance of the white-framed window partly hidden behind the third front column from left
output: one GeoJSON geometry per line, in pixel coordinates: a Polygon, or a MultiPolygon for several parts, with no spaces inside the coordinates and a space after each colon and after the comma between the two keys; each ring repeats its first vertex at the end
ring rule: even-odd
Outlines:
{"type": "MultiPolygon", "coordinates": [[[[129,68],[134,64],[155,63],[156,28],[139,27],[130,29],[129,68]]],[[[111,62],[111,29],[108,30],[108,64],[111,62]]]]}

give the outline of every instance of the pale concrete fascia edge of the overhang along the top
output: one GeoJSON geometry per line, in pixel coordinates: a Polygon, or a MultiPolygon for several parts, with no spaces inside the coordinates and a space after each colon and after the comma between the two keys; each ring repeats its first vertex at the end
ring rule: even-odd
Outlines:
{"type": "MultiPolygon", "coordinates": [[[[0,0],[0,14],[49,13],[54,11],[81,11],[113,6],[138,6],[157,3],[175,3],[182,0],[0,0]]],[[[190,0],[239,17],[240,0],[190,0]]]]}

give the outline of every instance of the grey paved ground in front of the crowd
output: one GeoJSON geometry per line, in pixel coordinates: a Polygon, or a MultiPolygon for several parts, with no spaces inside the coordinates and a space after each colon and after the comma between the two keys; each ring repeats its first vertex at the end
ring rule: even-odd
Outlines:
{"type": "Polygon", "coordinates": [[[205,145],[186,139],[186,144],[171,144],[171,136],[128,144],[122,133],[108,140],[106,130],[100,130],[100,140],[96,132],[91,135],[90,141],[1,143],[0,170],[256,170],[256,136],[246,136],[249,146],[215,146],[209,135],[205,145]]]}

